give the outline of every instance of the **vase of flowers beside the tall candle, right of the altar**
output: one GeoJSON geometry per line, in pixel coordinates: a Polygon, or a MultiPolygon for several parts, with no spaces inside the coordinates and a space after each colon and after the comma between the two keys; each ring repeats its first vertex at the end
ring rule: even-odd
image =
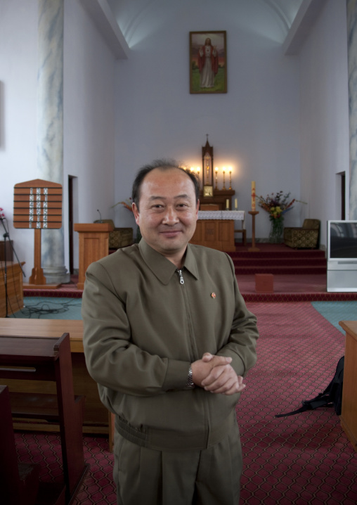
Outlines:
{"type": "Polygon", "coordinates": [[[258,197],[258,205],[269,214],[271,222],[270,243],[283,242],[284,215],[288,210],[293,208],[294,201],[295,198],[290,200],[290,193],[284,194],[283,191],[278,191],[275,195],[271,193],[266,198],[262,196],[258,197]]]}

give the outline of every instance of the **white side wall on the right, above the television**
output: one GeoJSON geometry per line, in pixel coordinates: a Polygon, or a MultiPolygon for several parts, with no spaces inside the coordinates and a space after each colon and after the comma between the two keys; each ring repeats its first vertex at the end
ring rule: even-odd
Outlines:
{"type": "Polygon", "coordinates": [[[339,172],[346,172],[349,219],[349,102],[346,0],[326,0],[300,55],[301,199],[304,217],[341,219],[339,172]]]}

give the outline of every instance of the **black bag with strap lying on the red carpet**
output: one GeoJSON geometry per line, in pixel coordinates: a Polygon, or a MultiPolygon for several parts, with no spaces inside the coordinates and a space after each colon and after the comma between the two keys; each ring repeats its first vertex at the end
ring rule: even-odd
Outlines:
{"type": "Polygon", "coordinates": [[[335,412],[337,416],[339,416],[342,409],[343,385],[344,356],[339,359],[335,371],[335,376],[332,378],[332,381],[327,386],[325,391],[320,392],[320,394],[313,399],[304,399],[302,402],[302,407],[300,407],[300,409],[294,410],[292,412],[287,412],[287,414],[277,414],[275,417],[293,416],[294,414],[299,414],[300,412],[305,412],[306,410],[317,409],[318,407],[335,407],[335,412]]]}

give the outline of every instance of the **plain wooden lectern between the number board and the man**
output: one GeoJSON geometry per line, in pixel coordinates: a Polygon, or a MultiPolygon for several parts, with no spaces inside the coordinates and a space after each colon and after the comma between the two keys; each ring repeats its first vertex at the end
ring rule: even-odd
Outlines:
{"type": "Polygon", "coordinates": [[[76,223],[74,231],[79,233],[79,276],[77,288],[84,288],[86,269],[89,265],[109,254],[109,232],[112,231],[108,223],[76,223]]]}

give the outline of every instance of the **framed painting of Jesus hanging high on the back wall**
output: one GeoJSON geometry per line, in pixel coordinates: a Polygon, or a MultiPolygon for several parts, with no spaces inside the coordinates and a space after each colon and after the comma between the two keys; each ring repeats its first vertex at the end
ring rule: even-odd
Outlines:
{"type": "Polygon", "coordinates": [[[226,92],[226,32],[190,32],[190,93],[226,92]]]}

